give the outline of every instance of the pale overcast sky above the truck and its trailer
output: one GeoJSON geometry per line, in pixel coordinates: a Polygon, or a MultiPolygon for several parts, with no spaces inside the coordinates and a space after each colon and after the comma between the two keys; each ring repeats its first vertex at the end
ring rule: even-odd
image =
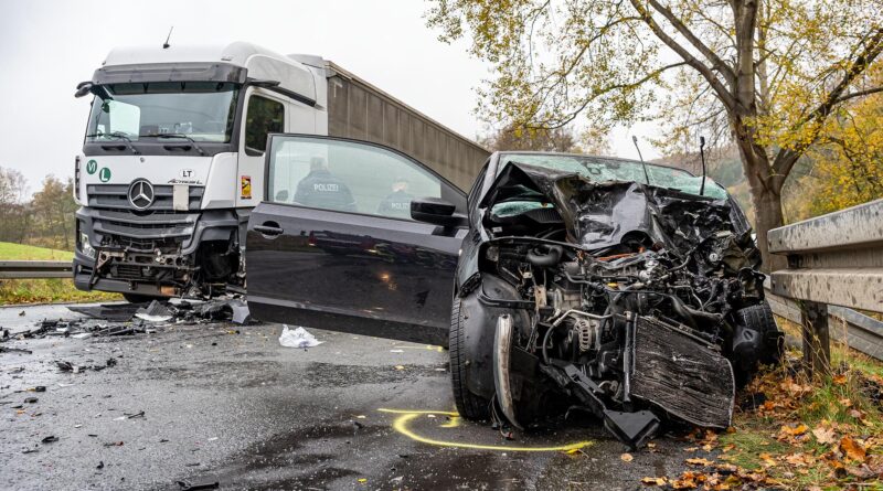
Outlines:
{"type": "MultiPolygon", "coordinates": [[[[89,98],[77,83],[114,46],[248,41],[279,53],[332,60],[454,130],[475,138],[474,88],[488,67],[466,44],[425,26],[427,4],[397,1],[194,1],[89,3],[0,0],[0,167],[22,171],[30,191],[46,174],[73,174],[89,98]]],[[[623,129],[614,153],[637,157],[623,129]]],[[[649,145],[645,157],[653,157],[649,145]]]]}

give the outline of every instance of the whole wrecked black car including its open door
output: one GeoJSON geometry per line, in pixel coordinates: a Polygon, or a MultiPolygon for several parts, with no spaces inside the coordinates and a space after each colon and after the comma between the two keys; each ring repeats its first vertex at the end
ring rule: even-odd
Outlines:
{"type": "Polygon", "coordinates": [[[778,356],[749,224],[710,180],[497,152],[467,198],[373,143],[280,135],[267,159],[266,195],[284,198],[249,221],[252,312],[447,344],[466,418],[586,410],[638,447],[667,420],[727,427],[737,385],[778,356]],[[347,199],[289,200],[305,162],[347,199]]]}

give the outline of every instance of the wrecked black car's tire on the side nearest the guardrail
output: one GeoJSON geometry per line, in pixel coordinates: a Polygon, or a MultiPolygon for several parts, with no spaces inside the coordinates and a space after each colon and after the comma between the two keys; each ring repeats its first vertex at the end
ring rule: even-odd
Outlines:
{"type": "Polygon", "coordinates": [[[757,365],[774,364],[781,355],[781,331],[766,300],[733,312],[733,371],[736,384],[744,385],[757,372],[757,365]]]}

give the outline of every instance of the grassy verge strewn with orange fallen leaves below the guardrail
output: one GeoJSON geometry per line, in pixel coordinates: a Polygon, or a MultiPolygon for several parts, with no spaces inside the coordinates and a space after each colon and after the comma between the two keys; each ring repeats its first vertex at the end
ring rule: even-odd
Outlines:
{"type": "MultiPolygon", "coordinates": [[[[847,357],[847,360],[852,360],[847,357]]],[[[842,362],[810,380],[797,364],[742,392],[733,426],[683,437],[687,470],[641,479],[666,490],[877,489],[883,482],[883,364],[842,362]],[[868,366],[872,366],[870,371],[868,366]]]]}

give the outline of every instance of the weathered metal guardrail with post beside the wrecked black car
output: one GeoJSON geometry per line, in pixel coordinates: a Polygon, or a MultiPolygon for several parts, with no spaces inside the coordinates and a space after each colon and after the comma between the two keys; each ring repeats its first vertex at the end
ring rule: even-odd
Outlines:
{"type": "Polygon", "coordinates": [[[785,311],[791,300],[807,365],[828,370],[829,316],[847,321],[850,346],[880,357],[883,323],[850,309],[883,312],[883,200],[774,228],[768,242],[770,253],[788,258],[769,286],[786,299],[785,311]]]}

